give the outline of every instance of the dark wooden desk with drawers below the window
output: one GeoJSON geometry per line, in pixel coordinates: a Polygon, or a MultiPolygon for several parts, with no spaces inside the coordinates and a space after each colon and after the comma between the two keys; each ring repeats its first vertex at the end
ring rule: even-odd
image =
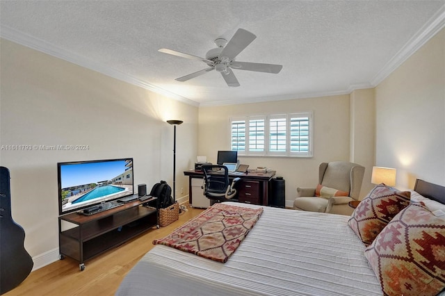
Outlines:
{"type": "MultiPolygon", "coordinates": [[[[192,179],[204,178],[204,173],[196,170],[184,171],[184,175],[188,176],[188,202],[192,203],[192,179]]],[[[267,206],[270,201],[270,181],[275,176],[275,171],[257,173],[229,173],[229,179],[236,177],[241,178],[238,183],[238,201],[246,204],[260,204],[267,206]]]]}

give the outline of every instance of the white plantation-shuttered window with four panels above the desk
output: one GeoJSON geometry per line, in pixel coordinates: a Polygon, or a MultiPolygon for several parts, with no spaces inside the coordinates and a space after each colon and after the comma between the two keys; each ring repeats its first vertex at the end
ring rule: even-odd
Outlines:
{"type": "Polygon", "coordinates": [[[312,113],[234,117],[230,126],[238,155],[312,156],[312,113]]]}

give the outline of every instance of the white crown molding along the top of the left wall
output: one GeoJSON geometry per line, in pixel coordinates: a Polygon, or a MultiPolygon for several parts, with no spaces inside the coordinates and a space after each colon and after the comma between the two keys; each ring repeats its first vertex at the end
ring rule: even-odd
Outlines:
{"type": "Polygon", "coordinates": [[[182,97],[179,94],[175,94],[163,88],[159,88],[156,85],[152,85],[150,83],[147,83],[146,81],[137,79],[136,77],[131,76],[129,74],[125,74],[110,67],[100,65],[99,63],[95,63],[92,60],[88,60],[87,58],[73,54],[72,52],[66,51],[65,49],[60,49],[59,47],[56,47],[56,45],[54,44],[40,40],[38,38],[34,38],[31,35],[27,35],[21,31],[17,31],[8,26],[0,26],[0,37],[24,45],[25,47],[41,51],[44,54],[49,54],[50,56],[55,56],[56,58],[66,60],[67,62],[73,63],[75,65],[86,67],[87,69],[91,69],[95,72],[102,73],[106,76],[110,76],[120,81],[136,85],[146,90],[151,90],[152,92],[156,92],[157,94],[162,94],[165,97],[181,101],[185,104],[189,104],[192,106],[199,106],[199,104],[196,101],[192,101],[191,99],[182,97]]]}

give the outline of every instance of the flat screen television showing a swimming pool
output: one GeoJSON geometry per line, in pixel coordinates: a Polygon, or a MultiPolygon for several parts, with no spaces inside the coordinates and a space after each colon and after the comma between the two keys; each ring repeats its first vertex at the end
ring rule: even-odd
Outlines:
{"type": "Polygon", "coordinates": [[[133,195],[133,158],[57,163],[58,211],[64,215],[133,195]]]}

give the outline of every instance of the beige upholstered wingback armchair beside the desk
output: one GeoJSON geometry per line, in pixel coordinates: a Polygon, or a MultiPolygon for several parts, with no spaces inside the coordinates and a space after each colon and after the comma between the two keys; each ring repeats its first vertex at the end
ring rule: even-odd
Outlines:
{"type": "Polygon", "coordinates": [[[358,200],[364,167],[347,161],[321,163],[316,188],[297,188],[293,208],[302,211],[350,215],[348,203],[358,200]]]}

